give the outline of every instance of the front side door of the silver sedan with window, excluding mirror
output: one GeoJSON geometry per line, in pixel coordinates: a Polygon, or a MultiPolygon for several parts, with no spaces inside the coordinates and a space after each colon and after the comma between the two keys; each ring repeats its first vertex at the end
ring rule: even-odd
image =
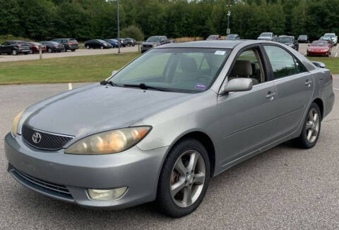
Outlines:
{"type": "Polygon", "coordinates": [[[251,46],[238,55],[227,74],[228,80],[249,77],[254,87],[218,97],[224,152],[222,167],[258,151],[274,139],[277,89],[268,79],[263,51],[259,46],[251,46]]]}

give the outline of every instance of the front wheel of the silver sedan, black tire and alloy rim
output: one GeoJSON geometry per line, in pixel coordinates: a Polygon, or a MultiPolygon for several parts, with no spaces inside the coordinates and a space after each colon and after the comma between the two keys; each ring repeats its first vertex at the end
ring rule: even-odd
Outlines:
{"type": "Polygon", "coordinates": [[[210,161],[206,148],[196,139],[184,139],[172,148],[162,166],[157,186],[157,207],[170,217],[189,215],[202,202],[209,181],[210,161]],[[196,166],[190,167],[189,162],[194,157],[198,157],[196,166]],[[177,170],[180,168],[182,170],[177,170]],[[180,189],[171,190],[175,184],[180,184],[180,189]]]}

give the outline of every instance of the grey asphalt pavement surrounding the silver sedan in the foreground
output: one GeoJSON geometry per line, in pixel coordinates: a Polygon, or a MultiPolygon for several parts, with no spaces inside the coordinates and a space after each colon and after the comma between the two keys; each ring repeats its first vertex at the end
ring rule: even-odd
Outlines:
{"type": "Polygon", "coordinates": [[[338,229],[339,76],[335,106],[309,150],[288,143],[232,167],[210,181],[189,216],[172,219],[153,203],[90,210],[30,191],[7,172],[4,135],[32,103],[83,84],[0,86],[0,229],[338,229]]]}

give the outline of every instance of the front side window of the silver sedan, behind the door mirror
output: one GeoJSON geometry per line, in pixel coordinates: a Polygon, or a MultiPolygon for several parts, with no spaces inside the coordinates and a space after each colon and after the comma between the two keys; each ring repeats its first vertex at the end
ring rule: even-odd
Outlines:
{"type": "Polygon", "coordinates": [[[236,77],[250,78],[253,85],[264,82],[263,65],[257,49],[248,49],[239,55],[228,79],[236,77]]]}

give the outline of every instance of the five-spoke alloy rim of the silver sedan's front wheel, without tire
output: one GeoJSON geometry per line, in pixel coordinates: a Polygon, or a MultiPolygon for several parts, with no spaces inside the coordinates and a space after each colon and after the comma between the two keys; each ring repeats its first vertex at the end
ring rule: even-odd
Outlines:
{"type": "Polygon", "coordinates": [[[179,207],[191,206],[200,196],[206,177],[206,165],[201,153],[189,150],[178,158],[172,169],[169,189],[179,207]]]}

